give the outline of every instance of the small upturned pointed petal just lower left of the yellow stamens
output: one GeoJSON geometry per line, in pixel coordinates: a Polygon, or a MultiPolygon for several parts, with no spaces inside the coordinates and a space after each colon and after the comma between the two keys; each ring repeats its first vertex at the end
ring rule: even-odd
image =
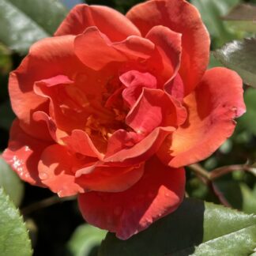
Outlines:
{"type": "Polygon", "coordinates": [[[83,130],[73,130],[70,136],[62,137],[62,141],[73,152],[84,156],[97,157],[100,160],[103,159],[103,155],[96,149],[88,134],[83,130]]]}

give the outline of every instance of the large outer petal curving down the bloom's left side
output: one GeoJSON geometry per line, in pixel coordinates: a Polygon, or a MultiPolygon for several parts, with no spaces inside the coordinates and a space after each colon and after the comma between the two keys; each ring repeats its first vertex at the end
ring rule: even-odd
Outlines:
{"type": "Polygon", "coordinates": [[[74,36],[58,36],[40,40],[32,45],[21,66],[9,77],[9,94],[13,111],[28,134],[51,140],[47,126],[32,119],[34,111],[48,112],[48,100],[33,91],[36,81],[65,74],[72,77],[84,66],[73,54],[74,36]]]}

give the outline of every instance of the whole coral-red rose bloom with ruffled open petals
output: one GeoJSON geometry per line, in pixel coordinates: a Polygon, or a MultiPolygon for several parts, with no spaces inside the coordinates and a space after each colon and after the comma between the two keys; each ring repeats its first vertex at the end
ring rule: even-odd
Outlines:
{"type": "Polygon", "coordinates": [[[78,5],[10,74],[17,119],[4,157],[128,239],[177,209],[183,166],[214,152],[245,111],[240,77],[208,62],[209,34],[186,1],[126,16],[78,5]]]}

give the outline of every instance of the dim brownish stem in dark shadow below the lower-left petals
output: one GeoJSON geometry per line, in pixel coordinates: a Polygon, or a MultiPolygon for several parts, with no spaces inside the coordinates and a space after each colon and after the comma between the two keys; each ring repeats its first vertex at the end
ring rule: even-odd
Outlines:
{"type": "Polygon", "coordinates": [[[36,201],[32,205],[28,205],[28,206],[24,207],[23,209],[21,209],[21,213],[23,215],[28,215],[32,212],[39,210],[39,209],[43,209],[43,208],[58,204],[63,201],[70,201],[70,200],[73,200],[74,198],[75,197],[58,198],[58,196],[52,196],[51,198],[46,198],[46,199],[43,199],[42,201],[36,201]]]}

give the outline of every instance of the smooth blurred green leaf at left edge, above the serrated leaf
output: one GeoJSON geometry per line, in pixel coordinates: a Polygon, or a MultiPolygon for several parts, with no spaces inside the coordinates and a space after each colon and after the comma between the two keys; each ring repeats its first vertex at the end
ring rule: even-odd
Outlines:
{"type": "Polygon", "coordinates": [[[17,174],[0,157],[0,186],[4,188],[6,194],[15,205],[20,205],[24,194],[24,183],[17,174]]]}

